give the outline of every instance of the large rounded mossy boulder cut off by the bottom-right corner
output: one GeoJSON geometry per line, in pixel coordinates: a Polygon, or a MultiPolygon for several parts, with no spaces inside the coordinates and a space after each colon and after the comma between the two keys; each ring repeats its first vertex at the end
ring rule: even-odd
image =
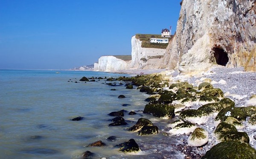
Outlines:
{"type": "Polygon", "coordinates": [[[244,142],[226,141],[213,146],[201,159],[256,159],[256,150],[244,142]]]}

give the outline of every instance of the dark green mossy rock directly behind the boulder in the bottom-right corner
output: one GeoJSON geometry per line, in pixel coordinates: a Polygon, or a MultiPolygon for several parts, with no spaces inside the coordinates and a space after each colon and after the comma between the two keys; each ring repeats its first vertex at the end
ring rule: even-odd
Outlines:
{"type": "Polygon", "coordinates": [[[234,125],[226,122],[218,124],[214,133],[220,141],[240,141],[246,143],[249,143],[250,141],[247,133],[238,132],[234,125]]]}

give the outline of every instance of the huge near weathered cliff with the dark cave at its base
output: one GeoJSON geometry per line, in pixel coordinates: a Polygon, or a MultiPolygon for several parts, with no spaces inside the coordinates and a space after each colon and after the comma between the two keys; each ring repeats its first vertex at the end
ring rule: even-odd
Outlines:
{"type": "Polygon", "coordinates": [[[183,0],[162,67],[181,72],[212,64],[256,71],[256,0],[183,0]]]}

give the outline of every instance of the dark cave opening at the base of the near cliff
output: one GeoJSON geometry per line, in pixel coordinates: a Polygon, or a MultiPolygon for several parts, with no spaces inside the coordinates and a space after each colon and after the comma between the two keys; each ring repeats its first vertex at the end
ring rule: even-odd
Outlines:
{"type": "Polygon", "coordinates": [[[212,48],[212,51],[213,51],[216,63],[221,66],[226,66],[227,62],[229,61],[227,52],[225,52],[223,49],[217,48],[217,47],[212,48]]]}

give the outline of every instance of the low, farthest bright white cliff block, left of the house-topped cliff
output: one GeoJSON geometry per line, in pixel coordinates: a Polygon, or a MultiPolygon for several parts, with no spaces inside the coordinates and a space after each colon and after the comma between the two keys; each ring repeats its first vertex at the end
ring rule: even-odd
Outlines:
{"type": "Polygon", "coordinates": [[[129,69],[130,63],[130,61],[123,61],[114,56],[102,56],[99,58],[99,63],[94,64],[94,71],[118,72],[129,69]]]}

